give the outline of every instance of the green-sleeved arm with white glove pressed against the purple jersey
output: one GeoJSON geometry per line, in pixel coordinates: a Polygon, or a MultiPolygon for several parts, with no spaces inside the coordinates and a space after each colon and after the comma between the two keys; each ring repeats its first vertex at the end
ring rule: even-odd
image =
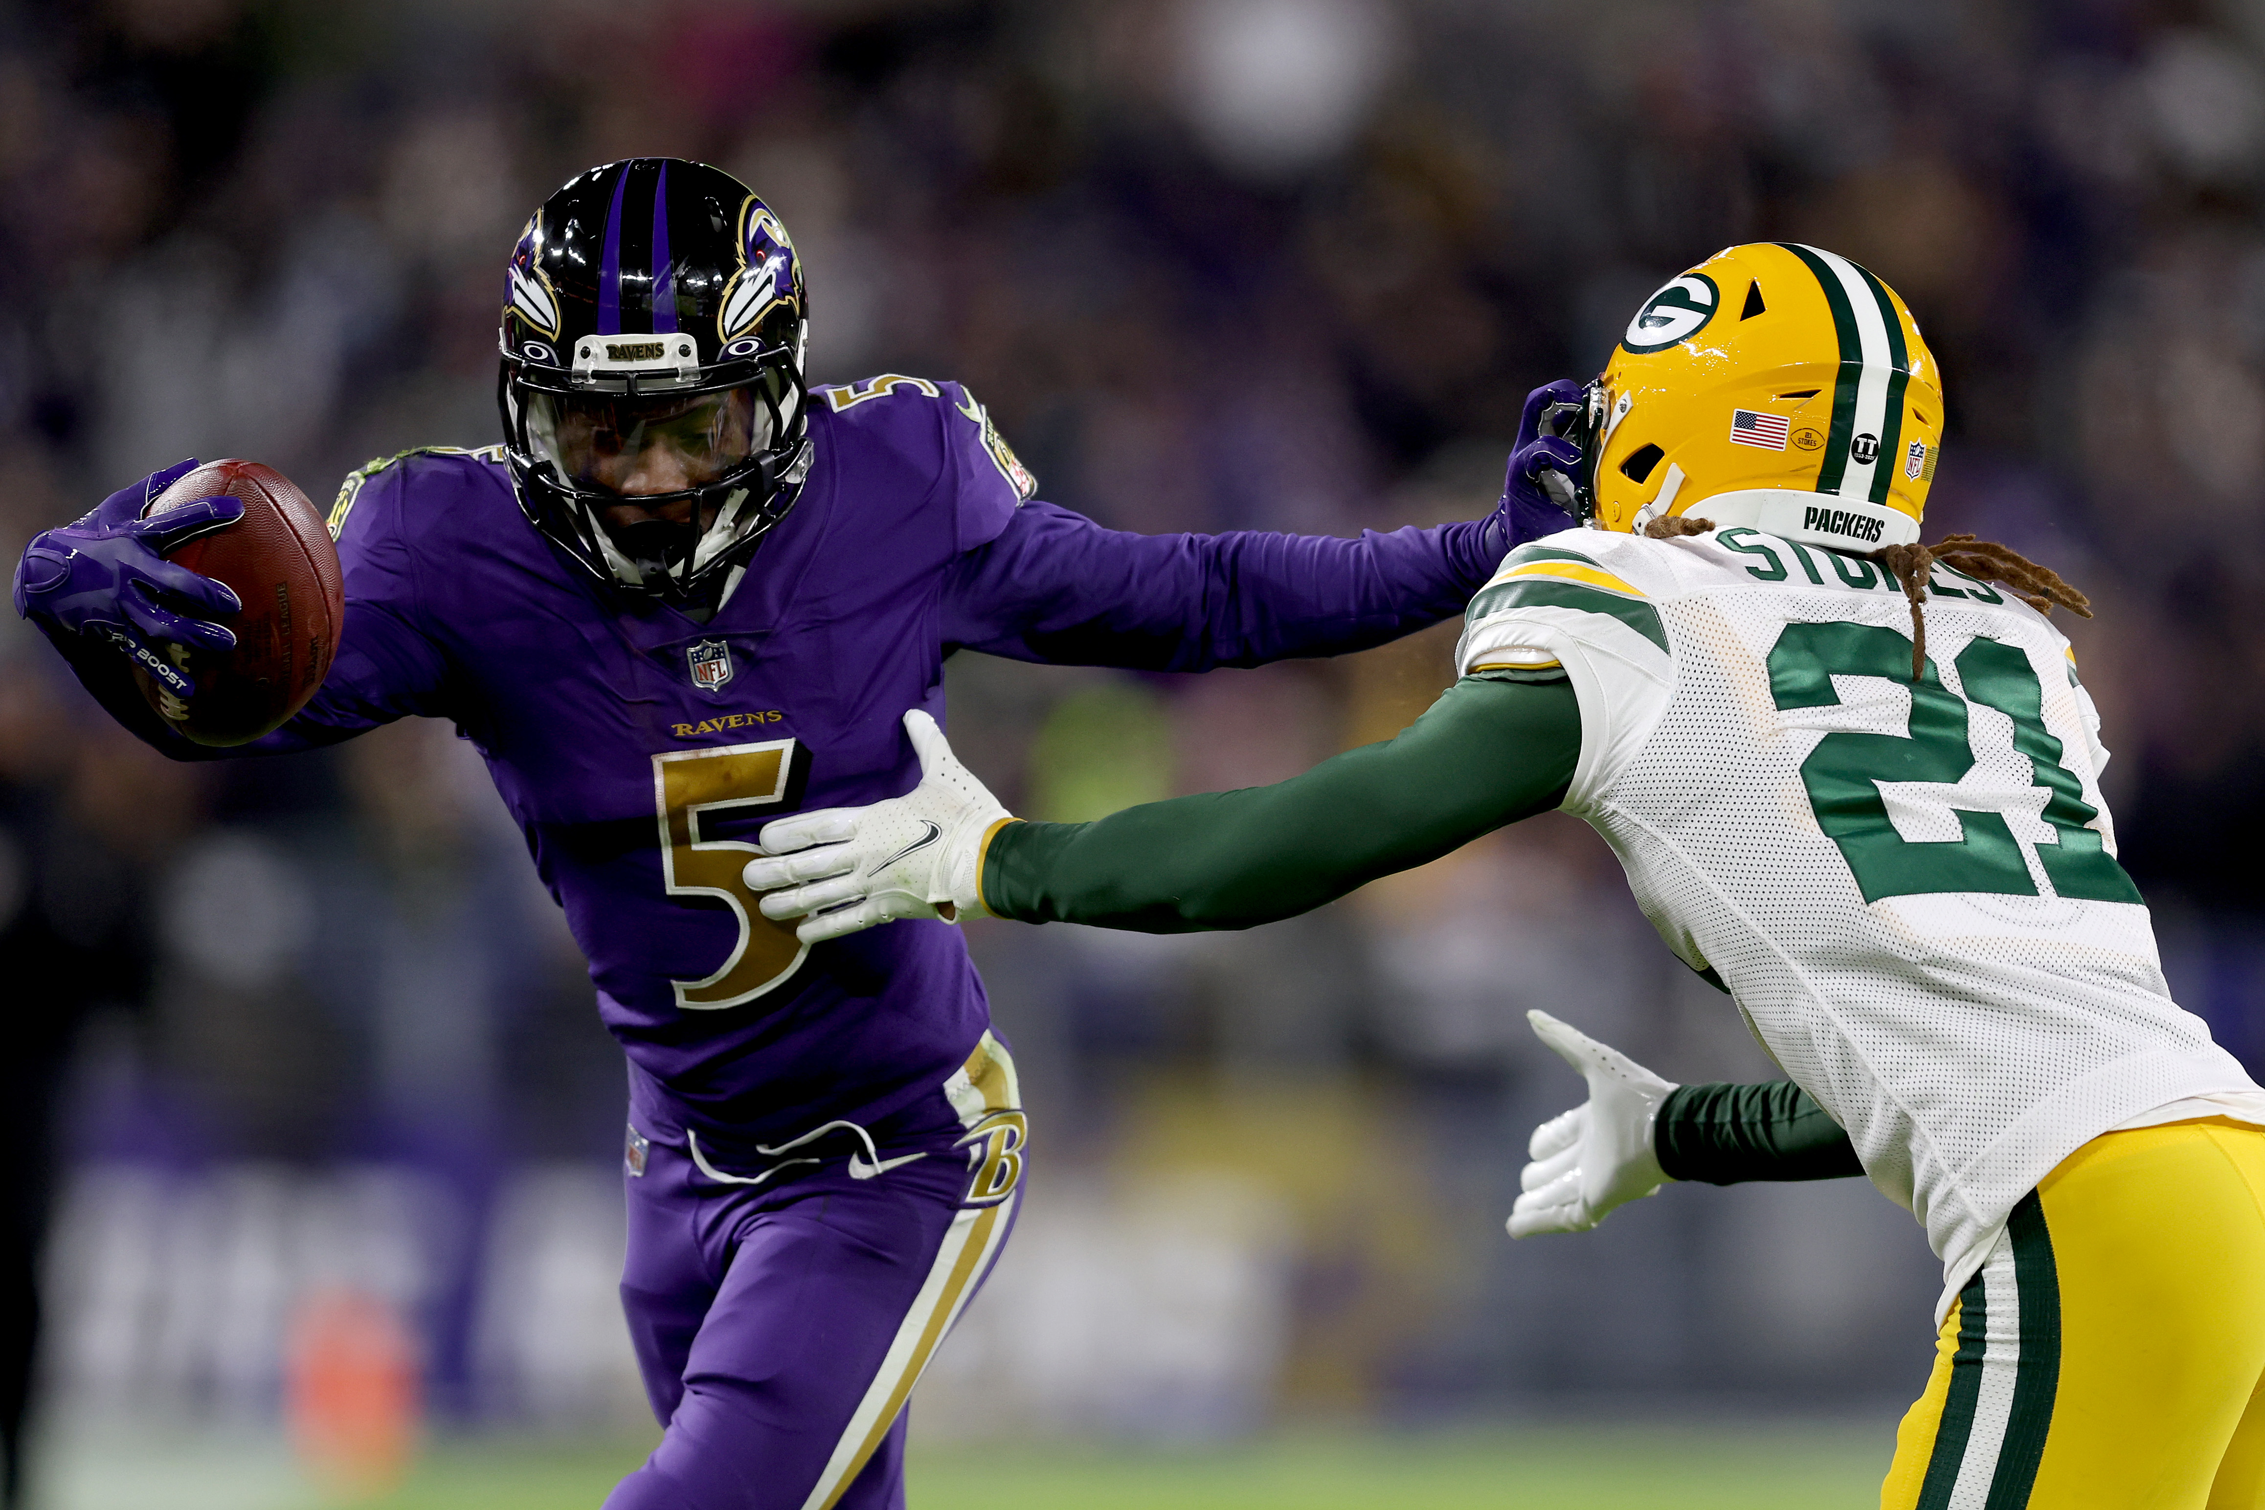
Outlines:
{"type": "Polygon", "coordinates": [[[1436,860],[1556,806],[1581,756],[1565,681],[1459,681],[1382,745],[1302,777],[1178,797],[1092,824],[1017,824],[908,713],[922,783],[865,808],[763,829],[747,885],[763,915],[820,942],[895,917],[963,910],[1139,933],[1248,928],[1436,860]]]}

